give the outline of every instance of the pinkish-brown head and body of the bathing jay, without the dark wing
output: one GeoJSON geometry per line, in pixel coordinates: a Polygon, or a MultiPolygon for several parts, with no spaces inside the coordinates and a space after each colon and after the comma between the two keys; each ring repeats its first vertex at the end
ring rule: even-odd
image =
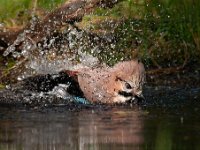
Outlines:
{"type": "Polygon", "coordinates": [[[65,71],[76,79],[84,97],[91,103],[126,103],[144,99],[145,69],[140,60],[119,62],[113,67],[83,67],[65,71]]]}

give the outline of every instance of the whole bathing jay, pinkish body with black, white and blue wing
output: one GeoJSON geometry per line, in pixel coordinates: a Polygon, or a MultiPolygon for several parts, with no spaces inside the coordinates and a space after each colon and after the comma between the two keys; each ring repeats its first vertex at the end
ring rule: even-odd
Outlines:
{"type": "Polygon", "coordinates": [[[137,104],[144,99],[145,69],[139,60],[76,68],[25,78],[0,91],[0,104],[137,104]]]}

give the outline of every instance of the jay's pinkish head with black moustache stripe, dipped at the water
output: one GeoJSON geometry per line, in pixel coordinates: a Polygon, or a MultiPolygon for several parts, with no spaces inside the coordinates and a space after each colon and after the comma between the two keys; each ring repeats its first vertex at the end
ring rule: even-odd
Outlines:
{"type": "Polygon", "coordinates": [[[137,102],[144,99],[142,88],[145,83],[145,69],[139,60],[120,62],[111,72],[115,78],[114,102],[137,102]]]}

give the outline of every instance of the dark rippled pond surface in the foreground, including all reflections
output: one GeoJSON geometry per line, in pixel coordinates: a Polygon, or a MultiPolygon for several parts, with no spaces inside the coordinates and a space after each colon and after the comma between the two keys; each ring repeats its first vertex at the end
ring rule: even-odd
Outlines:
{"type": "Polygon", "coordinates": [[[132,107],[0,107],[0,149],[200,149],[199,88],[145,93],[132,107]]]}

